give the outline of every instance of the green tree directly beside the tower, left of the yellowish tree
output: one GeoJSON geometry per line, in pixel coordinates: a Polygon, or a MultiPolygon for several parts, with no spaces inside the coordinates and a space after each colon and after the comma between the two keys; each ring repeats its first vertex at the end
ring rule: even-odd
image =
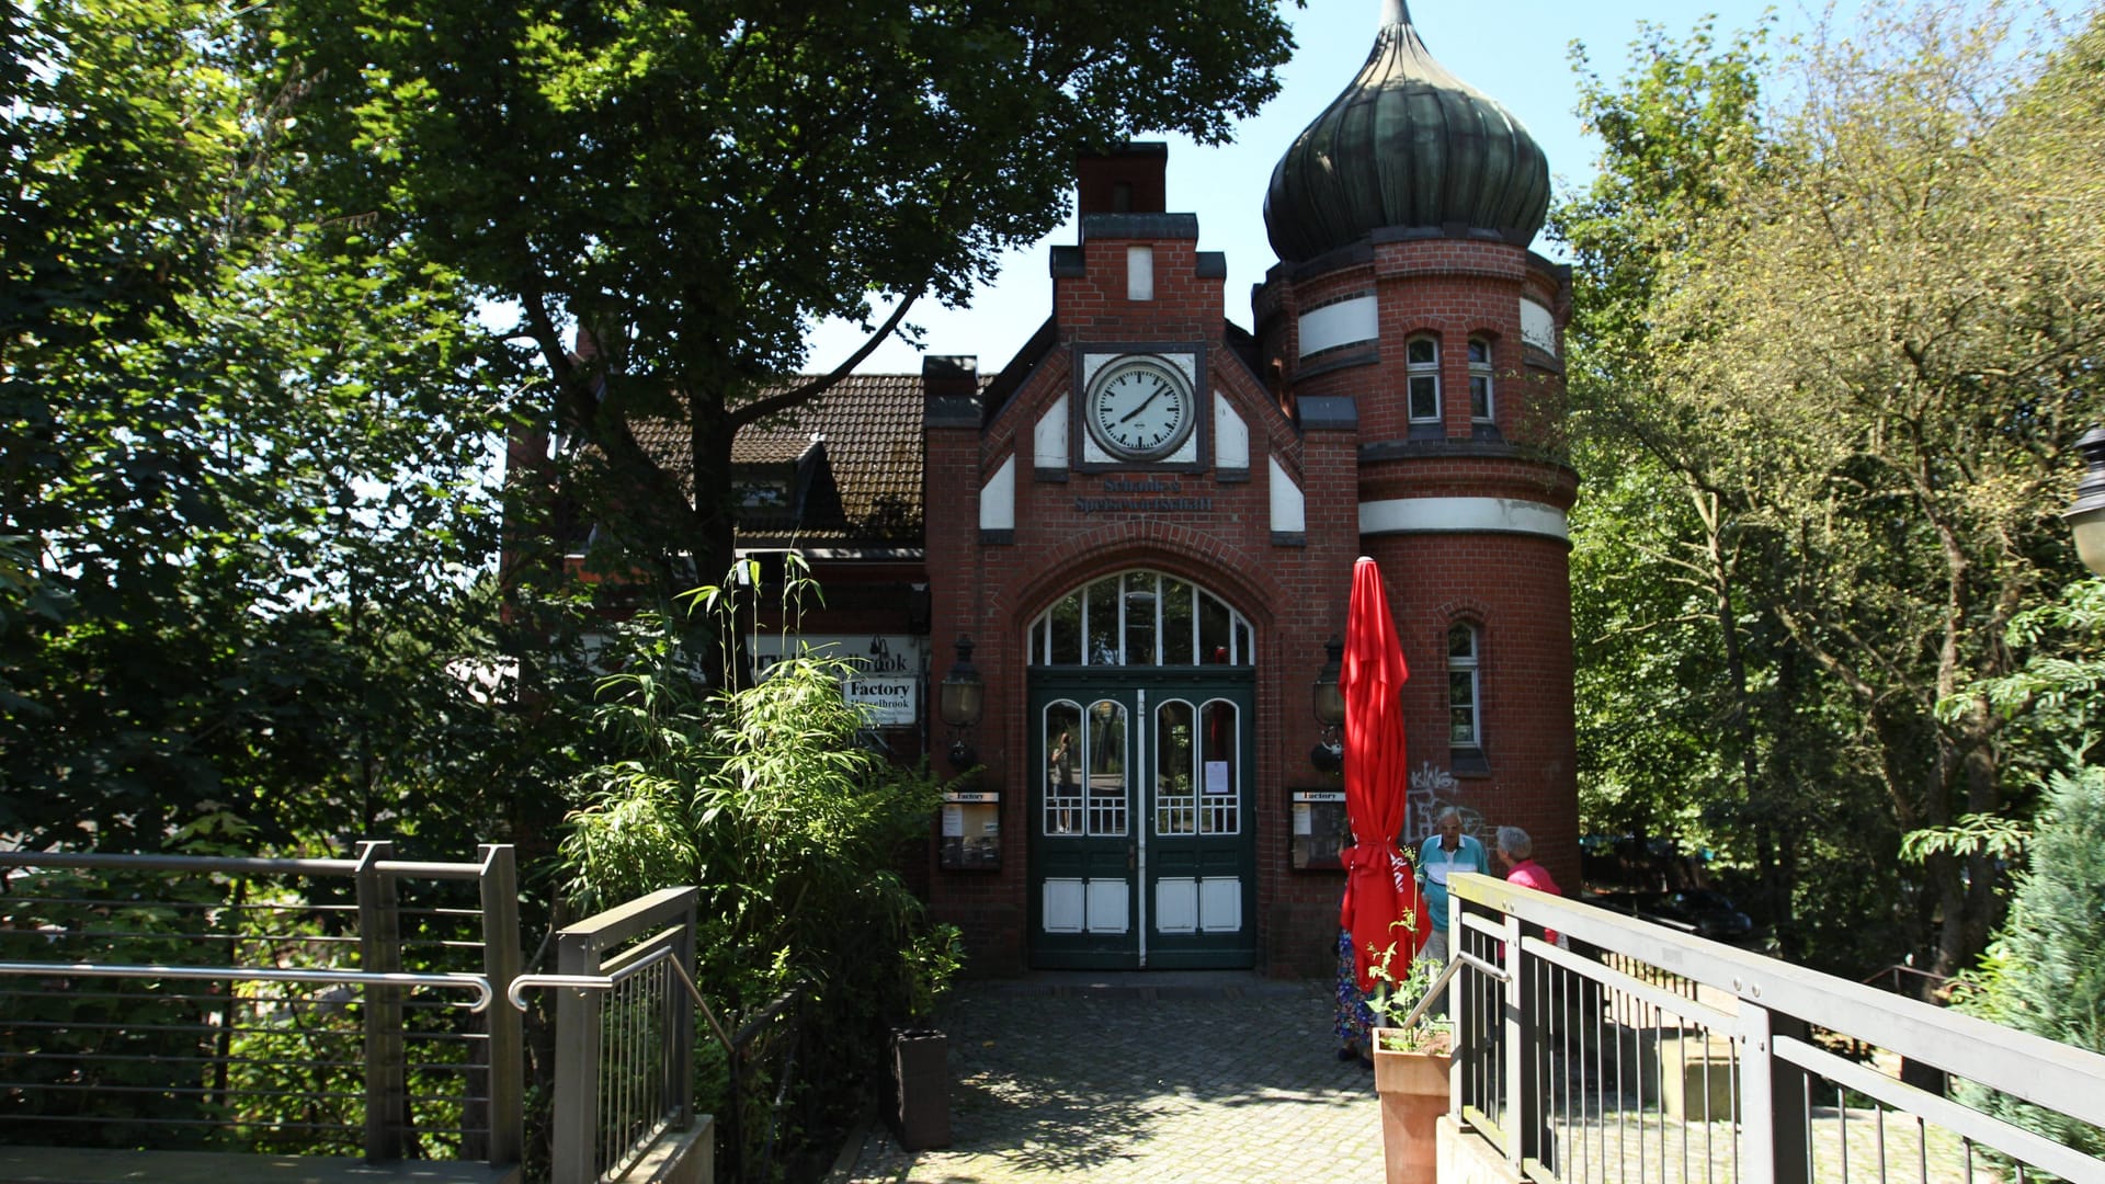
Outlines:
{"type": "Polygon", "coordinates": [[[1791,727],[1810,680],[1751,590],[1777,556],[1711,485],[1690,447],[1703,426],[1676,411],[1659,364],[1688,348],[1657,316],[1678,259],[1766,166],[1764,34],[1720,42],[1701,21],[1676,44],[1640,25],[1612,86],[1583,46],[1572,61],[1579,116],[1604,143],[1596,181],[1549,219],[1575,257],[1568,375],[1587,474],[1572,531],[1583,811],[1751,864],[1749,904],[1804,954],[1793,895],[1808,851],[1785,836],[1812,813],[1800,788],[1831,771],[1791,727]]]}

